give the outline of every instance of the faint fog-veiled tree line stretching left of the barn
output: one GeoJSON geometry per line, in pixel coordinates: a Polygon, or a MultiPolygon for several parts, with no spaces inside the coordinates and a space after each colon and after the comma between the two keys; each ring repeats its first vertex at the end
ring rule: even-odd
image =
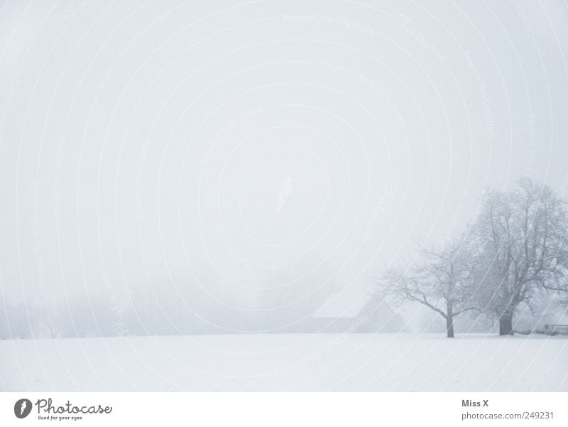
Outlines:
{"type": "Polygon", "coordinates": [[[55,301],[41,293],[25,301],[0,297],[0,339],[278,333],[310,317],[338,287],[327,270],[295,279],[307,266],[268,272],[263,288],[234,290],[211,275],[203,283],[137,283],[119,297],[108,290],[55,301]],[[322,284],[310,292],[313,283],[322,284]]]}

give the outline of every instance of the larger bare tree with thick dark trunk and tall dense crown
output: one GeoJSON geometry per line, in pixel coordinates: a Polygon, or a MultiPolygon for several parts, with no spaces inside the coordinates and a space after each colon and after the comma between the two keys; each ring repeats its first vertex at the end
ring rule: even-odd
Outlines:
{"type": "Polygon", "coordinates": [[[499,335],[513,334],[513,315],[539,287],[566,290],[568,222],[564,202],[527,178],[510,192],[489,191],[474,227],[484,242],[477,293],[499,319],[499,335]]]}

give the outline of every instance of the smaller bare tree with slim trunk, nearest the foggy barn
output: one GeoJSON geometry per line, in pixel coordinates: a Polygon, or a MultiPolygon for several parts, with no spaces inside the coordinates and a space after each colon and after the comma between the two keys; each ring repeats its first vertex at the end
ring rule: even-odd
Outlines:
{"type": "Polygon", "coordinates": [[[446,320],[448,337],[454,337],[454,319],[476,309],[473,283],[473,245],[455,239],[439,249],[424,249],[405,271],[388,271],[383,288],[400,303],[420,303],[446,320]]]}

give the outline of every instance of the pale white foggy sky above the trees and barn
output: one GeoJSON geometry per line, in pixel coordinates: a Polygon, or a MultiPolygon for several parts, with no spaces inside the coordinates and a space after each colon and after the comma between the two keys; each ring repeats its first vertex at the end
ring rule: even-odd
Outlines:
{"type": "Polygon", "coordinates": [[[349,306],[485,185],[567,193],[561,1],[0,7],[12,298],[199,281],[268,309],[251,288],[331,281],[349,306]]]}

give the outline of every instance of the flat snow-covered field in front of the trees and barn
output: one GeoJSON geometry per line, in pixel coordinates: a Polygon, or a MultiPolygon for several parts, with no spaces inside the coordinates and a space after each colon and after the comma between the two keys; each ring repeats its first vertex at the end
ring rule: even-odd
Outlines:
{"type": "Polygon", "coordinates": [[[568,391],[566,337],[204,335],[0,341],[6,391],[568,391]]]}

